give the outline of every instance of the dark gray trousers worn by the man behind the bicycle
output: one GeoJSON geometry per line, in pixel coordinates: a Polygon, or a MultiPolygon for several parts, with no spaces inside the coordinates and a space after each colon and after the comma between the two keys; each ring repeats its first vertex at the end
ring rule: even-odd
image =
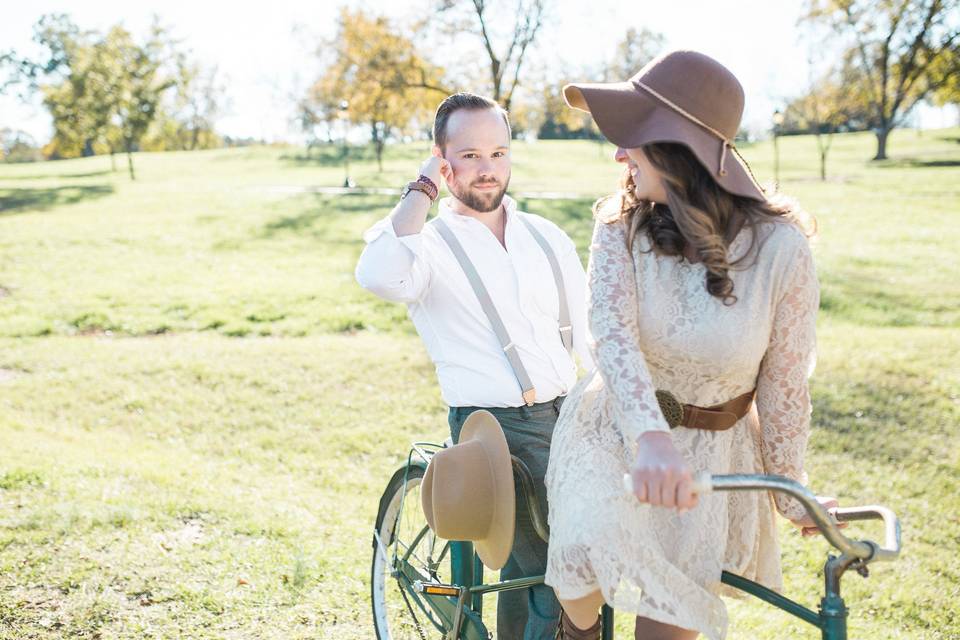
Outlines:
{"type": "MultiPolygon", "coordinates": [[[[560,414],[563,398],[530,407],[487,408],[451,407],[447,421],[456,443],[464,421],[474,411],[486,409],[500,422],[510,453],[520,458],[533,475],[537,499],[547,514],[547,491],[543,476],[550,457],[553,427],[560,414]]],[[[526,503],[517,489],[516,533],[513,551],[500,571],[501,580],[543,575],[547,570],[547,543],[533,528],[526,503]]],[[[498,640],[553,640],[560,620],[560,603],[553,589],[537,585],[529,589],[503,591],[497,599],[498,640]]]]}

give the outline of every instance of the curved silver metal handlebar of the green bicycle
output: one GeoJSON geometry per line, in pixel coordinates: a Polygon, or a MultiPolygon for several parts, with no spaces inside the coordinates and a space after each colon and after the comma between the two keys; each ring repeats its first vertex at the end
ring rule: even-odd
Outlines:
{"type": "MultiPolygon", "coordinates": [[[[624,489],[633,493],[633,479],[630,474],[623,476],[624,489]]],[[[881,506],[869,505],[863,507],[845,507],[826,509],[817,501],[817,497],[799,482],[783,476],[772,475],[711,475],[701,473],[694,479],[694,492],[699,494],[711,491],[739,491],[749,489],[764,489],[779,491],[798,500],[817,528],[831,545],[841,553],[852,558],[858,558],[864,563],[877,560],[895,560],[900,555],[900,521],[890,509],[881,506]],[[834,521],[830,515],[836,518],[834,521]],[[855,520],[882,520],[884,524],[883,546],[870,540],[851,540],[841,533],[836,522],[852,522],[855,520]]]]}

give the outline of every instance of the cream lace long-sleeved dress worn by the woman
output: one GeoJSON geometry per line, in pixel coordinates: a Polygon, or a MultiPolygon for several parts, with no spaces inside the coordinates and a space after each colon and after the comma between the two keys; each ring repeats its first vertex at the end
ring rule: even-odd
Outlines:
{"type": "MultiPolygon", "coordinates": [[[[809,243],[795,225],[765,222],[758,235],[759,252],[730,271],[738,300],[724,306],[707,292],[702,264],[655,255],[642,233],[631,256],[623,223],[596,225],[588,280],[597,370],[563,405],[546,474],[546,583],[561,599],[599,588],[618,611],[714,640],[727,630],[722,570],[781,588],[774,509],[799,518],[803,510],[792,499],[716,493],[678,514],[638,502],[622,484],[637,437],[670,431],[656,389],[709,407],[754,387],[756,411],[733,428],[677,428],[674,444],[695,473],[806,482],[819,289],[809,243]]],[[[744,227],[731,258],[746,253],[750,236],[744,227]]]]}

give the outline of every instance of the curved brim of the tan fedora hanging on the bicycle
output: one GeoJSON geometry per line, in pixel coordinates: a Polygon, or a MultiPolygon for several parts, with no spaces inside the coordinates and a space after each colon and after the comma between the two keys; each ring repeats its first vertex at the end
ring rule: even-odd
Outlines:
{"type": "Polygon", "coordinates": [[[475,540],[473,548],[488,569],[501,569],[513,550],[516,521],[516,494],[513,462],[500,423],[489,411],[474,411],[464,421],[458,444],[477,440],[486,450],[493,467],[494,511],[486,538],[475,540]]]}

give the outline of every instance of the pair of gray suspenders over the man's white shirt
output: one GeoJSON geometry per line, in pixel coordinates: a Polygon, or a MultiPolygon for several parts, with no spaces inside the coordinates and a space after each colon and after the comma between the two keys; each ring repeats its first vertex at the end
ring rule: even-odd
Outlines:
{"type": "MultiPolygon", "coordinates": [[[[540,232],[534,228],[530,221],[526,220],[522,215],[518,217],[523,221],[524,226],[527,227],[527,230],[530,231],[530,234],[536,239],[537,244],[540,245],[540,248],[543,249],[543,252],[547,254],[547,260],[550,262],[550,268],[553,270],[553,277],[556,281],[557,296],[560,302],[560,339],[563,342],[563,347],[568,353],[570,353],[573,349],[573,332],[570,326],[570,309],[567,305],[567,290],[563,284],[563,273],[560,271],[560,263],[557,261],[557,256],[547,243],[546,238],[544,238],[540,232]]],[[[490,294],[487,292],[487,288],[483,284],[483,279],[480,277],[480,274],[477,273],[476,267],[473,266],[470,258],[463,250],[463,246],[460,244],[460,241],[457,240],[457,237],[453,234],[453,231],[450,230],[450,227],[447,226],[447,223],[444,222],[442,218],[438,217],[435,224],[437,226],[437,231],[440,232],[440,237],[443,238],[443,240],[447,243],[447,245],[450,247],[450,251],[453,252],[454,257],[457,259],[457,262],[460,263],[460,267],[463,269],[464,274],[467,276],[467,280],[470,282],[470,286],[473,288],[473,292],[477,296],[477,300],[480,302],[480,307],[486,314],[487,319],[490,320],[490,325],[493,327],[493,332],[496,334],[497,340],[500,341],[500,346],[503,349],[504,354],[507,356],[507,361],[510,363],[510,367],[513,369],[514,375],[517,376],[517,382],[520,383],[520,390],[523,393],[523,401],[527,404],[527,406],[532,405],[536,401],[536,389],[533,388],[533,382],[530,381],[530,376],[527,374],[527,370],[524,368],[523,362],[520,361],[520,355],[517,353],[517,346],[513,343],[513,340],[510,339],[510,335],[507,333],[507,328],[504,326],[503,320],[500,318],[500,314],[497,313],[497,309],[493,305],[493,300],[490,299],[490,294]]]]}

